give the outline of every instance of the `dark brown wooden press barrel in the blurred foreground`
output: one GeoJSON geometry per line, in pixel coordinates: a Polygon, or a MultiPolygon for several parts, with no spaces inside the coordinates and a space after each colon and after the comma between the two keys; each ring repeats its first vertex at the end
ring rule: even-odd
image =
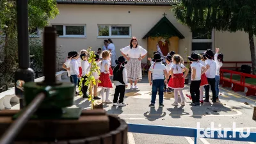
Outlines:
{"type": "MultiPolygon", "coordinates": [[[[0,136],[15,110],[1,111],[0,136]]],[[[127,124],[103,109],[84,110],[79,120],[29,120],[14,143],[127,144],[127,124]]]]}

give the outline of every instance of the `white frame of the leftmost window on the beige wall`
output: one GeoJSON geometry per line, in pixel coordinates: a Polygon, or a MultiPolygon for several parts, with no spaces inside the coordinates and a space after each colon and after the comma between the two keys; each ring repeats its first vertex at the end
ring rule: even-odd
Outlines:
{"type": "Polygon", "coordinates": [[[86,38],[86,24],[51,24],[51,26],[63,26],[63,35],[59,38],[86,38]],[[66,26],[84,26],[84,35],[66,35],[66,26]]]}

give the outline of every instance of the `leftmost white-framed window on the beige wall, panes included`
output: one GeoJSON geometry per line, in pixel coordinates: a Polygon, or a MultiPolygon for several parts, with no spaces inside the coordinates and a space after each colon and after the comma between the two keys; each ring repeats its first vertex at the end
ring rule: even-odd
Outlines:
{"type": "Polygon", "coordinates": [[[86,37],[86,26],[79,24],[60,25],[52,24],[59,37],[86,37]]]}

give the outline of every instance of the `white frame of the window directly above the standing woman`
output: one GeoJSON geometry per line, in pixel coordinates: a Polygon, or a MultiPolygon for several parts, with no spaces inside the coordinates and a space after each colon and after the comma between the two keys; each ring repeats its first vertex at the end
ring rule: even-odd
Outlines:
{"type": "Polygon", "coordinates": [[[97,25],[97,38],[131,38],[132,37],[132,28],[131,24],[98,24],[97,25]],[[109,36],[99,36],[99,26],[109,26],[109,36]],[[129,35],[112,35],[111,27],[129,27],[129,35]]]}

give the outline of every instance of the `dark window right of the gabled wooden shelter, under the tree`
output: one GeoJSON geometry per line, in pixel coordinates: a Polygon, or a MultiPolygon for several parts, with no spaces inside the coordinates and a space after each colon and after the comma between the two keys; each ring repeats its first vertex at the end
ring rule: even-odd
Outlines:
{"type": "Polygon", "coordinates": [[[214,48],[214,30],[192,33],[192,52],[203,53],[214,48]]]}

